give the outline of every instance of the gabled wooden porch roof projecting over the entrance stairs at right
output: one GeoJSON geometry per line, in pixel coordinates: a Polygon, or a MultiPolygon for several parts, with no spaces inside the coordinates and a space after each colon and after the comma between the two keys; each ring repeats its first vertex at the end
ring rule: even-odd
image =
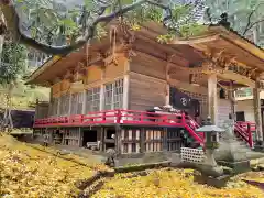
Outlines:
{"type": "Polygon", "coordinates": [[[226,61],[254,69],[255,74],[264,72],[264,51],[238,32],[221,25],[210,25],[200,36],[176,38],[172,44],[190,45],[212,58],[220,55],[226,61]]]}

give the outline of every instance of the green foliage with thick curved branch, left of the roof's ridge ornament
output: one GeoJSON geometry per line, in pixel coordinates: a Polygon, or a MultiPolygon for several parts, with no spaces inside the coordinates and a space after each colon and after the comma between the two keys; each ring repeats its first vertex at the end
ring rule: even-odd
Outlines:
{"type": "Polygon", "coordinates": [[[102,36],[113,19],[132,29],[152,20],[186,34],[205,8],[202,0],[1,0],[0,6],[13,40],[47,54],[67,54],[102,36]]]}

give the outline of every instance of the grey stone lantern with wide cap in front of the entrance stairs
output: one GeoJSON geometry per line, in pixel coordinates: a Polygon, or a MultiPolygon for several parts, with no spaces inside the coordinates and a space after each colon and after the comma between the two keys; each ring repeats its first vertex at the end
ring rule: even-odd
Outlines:
{"type": "Polygon", "coordinates": [[[202,163],[204,173],[211,176],[220,176],[223,174],[223,169],[218,166],[213,152],[219,146],[219,133],[224,132],[223,129],[213,125],[211,119],[208,118],[204,127],[196,130],[196,132],[205,133],[205,150],[206,157],[202,163]]]}

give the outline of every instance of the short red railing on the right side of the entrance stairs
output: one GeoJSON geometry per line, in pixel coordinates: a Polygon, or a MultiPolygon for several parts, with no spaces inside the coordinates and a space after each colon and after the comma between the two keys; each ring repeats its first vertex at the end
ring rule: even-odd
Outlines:
{"type": "Polygon", "coordinates": [[[253,122],[241,122],[238,121],[234,124],[234,132],[242,138],[250,147],[254,146],[252,131],[256,130],[256,125],[253,122]]]}

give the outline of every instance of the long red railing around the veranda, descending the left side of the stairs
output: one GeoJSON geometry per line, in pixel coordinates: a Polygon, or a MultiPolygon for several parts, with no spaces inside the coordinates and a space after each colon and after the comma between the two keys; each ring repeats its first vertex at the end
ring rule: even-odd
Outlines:
{"type": "Polygon", "coordinates": [[[47,118],[35,120],[34,128],[46,127],[81,127],[91,124],[141,124],[160,127],[182,127],[201,145],[204,145],[204,133],[196,133],[199,124],[189,116],[184,113],[146,112],[134,110],[109,110],[89,112],[87,114],[73,114],[69,117],[47,118]]]}

